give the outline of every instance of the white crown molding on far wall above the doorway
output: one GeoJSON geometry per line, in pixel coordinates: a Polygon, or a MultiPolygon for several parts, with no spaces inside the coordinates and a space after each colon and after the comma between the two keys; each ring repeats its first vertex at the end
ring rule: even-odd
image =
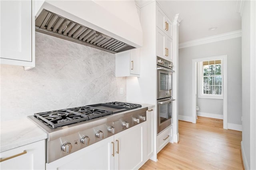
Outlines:
{"type": "Polygon", "coordinates": [[[210,37],[206,37],[206,38],[200,38],[197,40],[179,43],[179,49],[185,48],[185,47],[191,47],[191,46],[195,46],[195,45],[201,45],[201,44],[206,44],[206,43],[228,40],[228,39],[232,39],[232,38],[238,38],[241,36],[242,36],[242,30],[227,32],[224,34],[218,34],[216,36],[210,36],[210,37]]]}

